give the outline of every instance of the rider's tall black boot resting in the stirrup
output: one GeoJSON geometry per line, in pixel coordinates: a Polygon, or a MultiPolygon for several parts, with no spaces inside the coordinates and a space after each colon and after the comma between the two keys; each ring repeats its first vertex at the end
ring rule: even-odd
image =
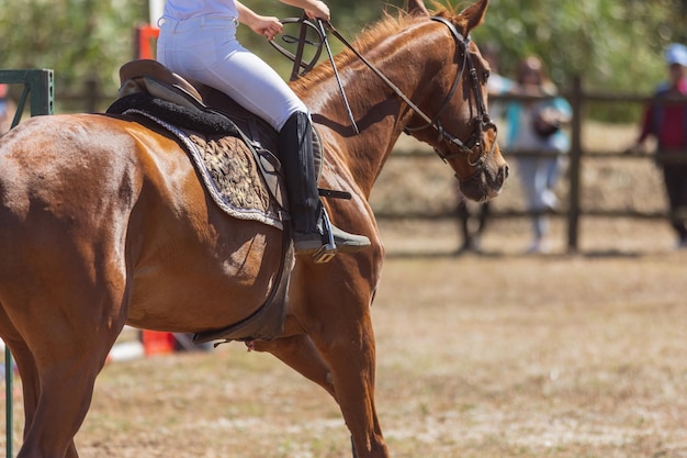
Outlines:
{"type": "MultiPolygon", "coordinates": [[[[313,131],[306,113],[289,118],[279,133],[279,157],[286,177],[286,191],[293,242],[296,254],[314,254],[328,242],[323,223],[324,209],[317,191],[313,131]]],[[[354,253],[370,245],[370,239],[331,227],[337,250],[354,253]]]]}

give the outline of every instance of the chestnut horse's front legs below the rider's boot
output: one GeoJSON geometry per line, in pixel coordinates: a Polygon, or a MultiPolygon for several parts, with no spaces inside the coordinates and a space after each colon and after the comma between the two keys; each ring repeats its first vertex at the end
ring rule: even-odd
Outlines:
{"type": "Polygon", "coordinates": [[[352,256],[341,256],[327,268],[296,262],[289,290],[288,337],[256,346],[334,396],[358,458],[388,457],[374,401],[370,305],[379,278],[375,266],[352,256]]]}

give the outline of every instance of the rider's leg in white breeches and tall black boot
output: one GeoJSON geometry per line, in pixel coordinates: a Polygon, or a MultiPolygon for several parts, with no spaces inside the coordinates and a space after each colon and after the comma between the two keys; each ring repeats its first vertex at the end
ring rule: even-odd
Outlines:
{"type": "MultiPolygon", "coordinates": [[[[201,30],[190,29],[189,36],[183,38],[177,30],[170,43],[158,46],[158,58],[179,75],[225,92],[280,132],[279,155],[286,175],[295,250],[297,254],[317,252],[323,246],[325,231],[307,108],[272,67],[240,46],[232,31],[227,32],[227,27],[234,26],[233,23],[218,24],[215,35],[213,26],[205,24],[201,30]],[[215,47],[202,46],[207,42],[206,34],[215,37],[212,41],[215,47]]],[[[334,226],[331,233],[341,252],[357,252],[370,245],[368,237],[334,226]]]]}

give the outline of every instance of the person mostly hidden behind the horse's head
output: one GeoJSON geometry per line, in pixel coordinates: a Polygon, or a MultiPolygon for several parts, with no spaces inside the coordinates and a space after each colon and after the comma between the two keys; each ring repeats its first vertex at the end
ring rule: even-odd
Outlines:
{"type": "MultiPolygon", "coordinates": [[[[508,92],[513,88],[513,81],[505,78],[499,72],[498,53],[494,46],[486,45],[482,48],[482,57],[489,64],[491,72],[487,80],[487,90],[489,96],[500,96],[508,92]]],[[[503,104],[499,102],[489,103],[489,115],[492,119],[502,118],[503,104]]],[[[460,196],[460,191],[459,191],[460,196]]],[[[465,252],[480,252],[482,233],[486,227],[486,220],[489,214],[489,202],[478,203],[473,209],[466,200],[460,196],[457,215],[460,224],[461,234],[463,235],[463,244],[459,248],[458,254],[465,252]],[[476,219],[476,223],[472,224],[472,220],[476,219]]]]}

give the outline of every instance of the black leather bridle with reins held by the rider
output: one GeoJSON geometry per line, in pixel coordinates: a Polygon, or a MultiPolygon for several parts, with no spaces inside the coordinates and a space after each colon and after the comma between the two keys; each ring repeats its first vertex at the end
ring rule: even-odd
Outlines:
{"type": "MultiPolygon", "coordinates": [[[[477,70],[475,69],[475,66],[472,62],[472,56],[470,55],[470,51],[469,51],[469,46],[470,46],[470,36],[464,37],[460,32],[458,32],[458,30],[455,29],[455,25],[453,25],[453,23],[449,20],[447,20],[446,18],[441,18],[441,16],[431,16],[430,18],[432,21],[437,21],[440,22],[442,24],[444,24],[449,31],[451,32],[451,35],[453,36],[453,38],[455,40],[455,43],[458,43],[458,45],[461,47],[462,51],[462,58],[463,58],[463,63],[460,66],[460,70],[458,71],[455,79],[453,80],[453,85],[451,86],[451,89],[449,90],[449,93],[447,94],[446,99],[443,100],[443,102],[441,103],[439,110],[437,111],[437,113],[435,113],[433,118],[428,116],[423,110],[420,110],[419,107],[417,107],[406,94],[404,94],[401,89],[398,89],[398,87],[396,85],[394,85],[384,74],[382,74],[374,65],[372,65],[362,54],[360,54],[329,22],[324,22],[325,25],[327,26],[327,29],[329,30],[329,32],[336,36],[346,47],[348,47],[363,64],[365,64],[380,79],[382,79],[382,81],[384,81],[384,83],[386,86],[388,86],[388,88],[394,91],[394,93],[396,96],[398,96],[398,98],[401,98],[410,110],[413,110],[418,116],[420,116],[426,124],[418,126],[418,127],[408,127],[406,126],[404,129],[404,132],[406,134],[409,134],[412,132],[419,132],[423,131],[425,129],[435,129],[437,131],[438,137],[437,137],[437,142],[438,144],[440,144],[441,142],[446,141],[449,144],[453,145],[454,147],[458,148],[458,152],[455,153],[443,153],[439,149],[438,146],[435,146],[435,153],[437,153],[437,155],[444,161],[448,163],[450,159],[453,159],[455,157],[459,157],[463,154],[468,155],[468,160],[471,167],[478,167],[482,166],[486,159],[494,153],[494,149],[496,147],[496,138],[494,138],[494,142],[492,142],[492,147],[489,148],[489,150],[487,152],[484,148],[484,133],[487,130],[493,129],[494,133],[497,134],[497,129],[496,129],[496,124],[494,124],[494,122],[492,122],[487,111],[486,111],[486,104],[484,102],[484,99],[482,98],[482,91],[480,88],[480,79],[477,77],[477,70]],[[441,123],[441,113],[446,110],[446,108],[449,105],[451,99],[453,98],[455,90],[458,89],[459,83],[463,80],[463,76],[465,72],[465,68],[469,68],[469,72],[470,72],[470,78],[471,78],[471,89],[473,92],[473,96],[475,98],[475,102],[476,102],[476,116],[474,116],[471,120],[471,123],[476,124],[475,125],[475,130],[473,131],[472,135],[470,136],[470,138],[468,138],[466,142],[461,141],[460,138],[458,138],[455,135],[447,132],[443,129],[443,125],[441,123]],[[475,159],[474,161],[470,160],[470,156],[473,154],[474,149],[480,147],[481,148],[481,153],[480,153],[480,157],[477,157],[477,159],[475,159]]],[[[313,24],[308,23],[307,20],[303,19],[297,19],[297,20],[293,20],[293,19],[289,19],[289,20],[284,20],[282,22],[300,22],[302,23],[302,27],[305,26],[311,26],[316,29],[313,24]]],[[[322,35],[322,34],[320,34],[322,35]]],[[[291,38],[293,41],[293,38],[291,38]]],[[[326,40],[325,37],[322,37],[323,42],[326,40]]],[[[294,60],[293,55],[290,55],[288,52],[284,52],[282,48],[280,48],[279,46],[274,46],[278,51],[280,51],[282,54],[286,55],[286,57],[291,58],[292,60],[294,60]]],[[[334,65],[334,62],[331,63],[334,65]]],[[[308,70],[309,68],[312,68],[313,63],[306,65],[303,65],[301,62],[295,62],[294,60],[294,68],[299,67],[304,67],[306,68],[306,70],[308,70]]],[[[346,97],[344,94],[344,97],[346,97]]]]}

